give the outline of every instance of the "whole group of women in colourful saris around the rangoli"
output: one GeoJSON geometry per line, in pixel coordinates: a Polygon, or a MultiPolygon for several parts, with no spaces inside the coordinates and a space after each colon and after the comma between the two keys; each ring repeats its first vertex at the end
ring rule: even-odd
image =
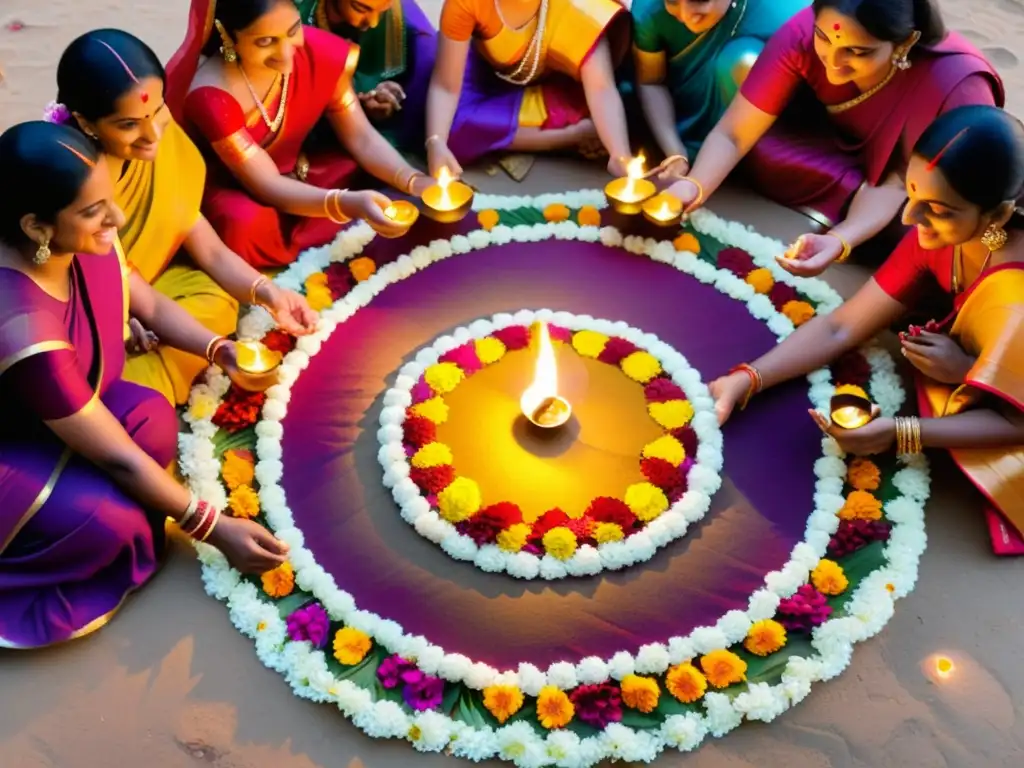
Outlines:
{"type": "Polygon", "coordinates": [[[0,137],[0,647],[102,626],[168,517],[243,570],[287,557],[167,471],[203,368],[270,383],[236,365],[240,304],[313,328],[260,269],[352,219],[395,234],[367,187],[417,197],[493,152],[603,153],[622,174],[638,122],[690,210],[735,170],[817,218],[780,257],[794,272],[901,210],[912,227],[839,311],[712,384],[722,421],[939,289],[948,316],[902,340],[922,417],[820,426],[855,453],[948,449],[1024,526],[1024,128],[930,0],[808,5],[445,0],[435,36],[413,0],[194,0],[166,72],[124,32],[73,42],[47,120],[0,137]]]}

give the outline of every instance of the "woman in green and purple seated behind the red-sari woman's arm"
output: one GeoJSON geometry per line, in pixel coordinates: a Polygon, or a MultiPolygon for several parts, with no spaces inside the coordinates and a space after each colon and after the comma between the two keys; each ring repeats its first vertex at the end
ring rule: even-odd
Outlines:
{"type": "Polygon", "coordinates": [[[362,111],[399,151],[423,146],[437,32],[416,0],[295,0],[303,24],[359,46],[352,76],[362,111]]]}

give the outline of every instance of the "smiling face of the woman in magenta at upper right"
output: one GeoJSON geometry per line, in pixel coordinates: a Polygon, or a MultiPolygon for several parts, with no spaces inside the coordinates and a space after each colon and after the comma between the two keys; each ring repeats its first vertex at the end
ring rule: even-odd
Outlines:
{"type": "Polygon", "coordinates": [[[881,80],[892,67],[894,50],[892,43],[871,37],[856,19],[831,8],[815,18],[814,52],[833,85],[881,80]]]}

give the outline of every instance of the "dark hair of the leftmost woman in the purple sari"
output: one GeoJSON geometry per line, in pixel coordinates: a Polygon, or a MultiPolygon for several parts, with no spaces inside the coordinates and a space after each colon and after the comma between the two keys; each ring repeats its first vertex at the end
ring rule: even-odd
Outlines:
{"type": "Polygon", "coordinates": [[[32,213],[52,224],[75,202],[99,154],[81,131],[36,121],[0,136],[0,241],[25,242],[22,218],[32,213]],[[63,144],[61,146],[61,144],[63,144]],[[85,158],[85,160],[83,160],[85,158]]]}

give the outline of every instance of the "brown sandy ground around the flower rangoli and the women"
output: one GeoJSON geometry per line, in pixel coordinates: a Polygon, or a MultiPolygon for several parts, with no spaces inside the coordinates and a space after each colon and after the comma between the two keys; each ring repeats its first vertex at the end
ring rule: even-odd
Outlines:
{"type": "MultiPolygon", "coordinates": [[[[436,3],[430,3],[436,14],[436,3]]],[[[943,0],[950,26],[1002,71],[1024,113],[1024,70],[1012,49],[1024,33],[1021,0],[943,0]]],[[[52,98],[62,47],[98,26],[130,30],[165,58],[183,34],[187,0],[2,0],[0,128],[33,119],[52,98]]],[[[600,174],[545,162],[523,184],[474,178],[487,191],[538,194],[594,186],[600,174]]],[[[6,180],[10,183],[12,180],[6,180]]],[[[800,217],[723,193],[713,208],[786,239],[800,217]]],[[[856,267],[829,276],[848,294],[856,267]]],[[[744,726],[696,755],[658,765],[693,768],[988,768],[1024,763],[1024,559],[990,555],[974,492],[938,460],[928,508],[921,585],[850,670],[821,684],[770,727],[744,726]],[[956,662],[942,684],[927,660],[956,662]]],[[[208,598],[188,550],[177,547],[156,581],[106,630],[40,653],[0,653],[0,766],[105,768],[391,768],[451,766],[406,744],[372,741],[339,713],[293,697],[208,598]]]]}

